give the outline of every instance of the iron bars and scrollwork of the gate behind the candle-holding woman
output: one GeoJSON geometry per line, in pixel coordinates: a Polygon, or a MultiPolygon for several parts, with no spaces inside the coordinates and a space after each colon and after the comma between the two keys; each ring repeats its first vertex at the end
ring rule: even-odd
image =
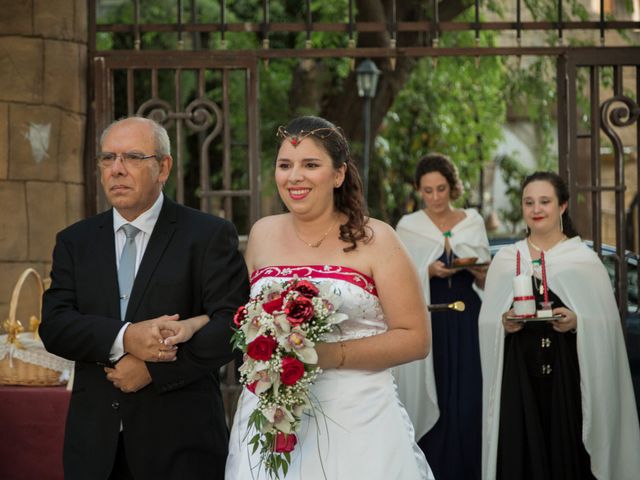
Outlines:
{"type": "MultiPolygon", "coordinates": [[[[615,196],[615,235],[616,254],[616,298],[621,318],[628,313],[628,284],[627,284],[627,228],[625,216],[625,192],[627,186],[624,175],[624,151],[622,141],[616,128],[636,125],[636,176],[640,179],[640,95],[639,62],[637,49],[635,52],[621,49],[608,49],[606,58],[590,56],[581,51],[571,51],[561,57],[557,65],[558,75],[558,134],[559,134],[559,164],[560,174],[567,180],[571,191],[570,211],[577,212],[580,208],[580,194],[591,196],[591,221],[588,225],[594,250],[601,252],[602,247],[602,194],[613,192],[615,196]],[[627,66],[635,69],[635,100],[624,95],[623,68],[627,66]],[[582,134],[578,131],[578,74],[586,69],[589,73],[589,113],[590,131],[582,134]],[[601,101],[600,76],[603,69],[611,69],[613,77],[612,96],[601,101]],[[562,94],[562,95],[561,95],[562,94]],[[603,185],[601,178],[601,131],[607,135],[613,146],[614,184],[603,185]],[[590,159],[588,162],[579,158],[579,140],[589,140],[590,159]],[[580,175],[588,165],[588,178],[585,182],[580,175]]],[[[640,187],[640,183],[637,184],[640,187]]],[[[640,213],[638,223],[640,224],[640,213]]],[[[636,236],[638,234],[636,233],[636,236]]],[[[640,274],[640,266],[638,267],[640,274]]]]}

